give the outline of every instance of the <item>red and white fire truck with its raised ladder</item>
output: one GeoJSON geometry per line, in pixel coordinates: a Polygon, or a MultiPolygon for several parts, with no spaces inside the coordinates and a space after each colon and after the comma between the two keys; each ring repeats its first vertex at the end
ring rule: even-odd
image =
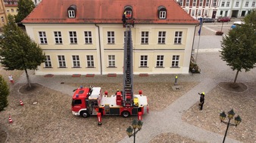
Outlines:
{"type": "Polygon", "coordinates": [[[104,95],[101,87],[80,87],[73,94],[72,112],[74,115],[89,117],[98,116],[98,123],[101,124],[101,115],[138,115],[142,120],[142,114],[148,113],[147,96],[133,94],[133,41],[131,27],[133,27],[133,17],[126,17],[124,26],[126,27],[126,37],[124,43],[123,57],[123,90],[117,90],[114,95],[104,95]]]}

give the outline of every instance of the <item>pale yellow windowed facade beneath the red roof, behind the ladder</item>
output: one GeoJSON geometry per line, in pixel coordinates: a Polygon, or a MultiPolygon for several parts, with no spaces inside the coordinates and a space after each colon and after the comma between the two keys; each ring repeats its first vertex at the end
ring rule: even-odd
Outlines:
{"type": "MultiPolygon", "coordinates": [[[[133,73],[188,74],[198,24],[190,18],[189,24],[139,23],[138,20],[132,28],[133,73]]],[[[37,23],[32,13],[23,24],[46,55],[36,75],[123,74],[126,28],[122,23],[37,23]]]]}

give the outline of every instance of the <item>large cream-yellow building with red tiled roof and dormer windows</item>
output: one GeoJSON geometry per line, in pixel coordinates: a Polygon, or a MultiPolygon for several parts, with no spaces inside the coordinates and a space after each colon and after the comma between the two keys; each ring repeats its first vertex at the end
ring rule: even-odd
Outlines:
{"type": "Polygon", "coordinates": [[[22,23],[45,52],[36,75],[123,74],[122,15],[132,29],[134,74],[188,74],[198,21],[170,0],[44,0],[22,23]]]}

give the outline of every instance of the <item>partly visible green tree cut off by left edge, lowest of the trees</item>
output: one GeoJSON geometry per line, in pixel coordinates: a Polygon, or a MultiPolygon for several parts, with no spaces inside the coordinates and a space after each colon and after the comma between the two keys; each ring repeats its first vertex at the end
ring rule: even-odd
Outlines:
{"type": "Polygon", "coordinates": [[[8,106],[7,97],[9,93],[9,87],[4,78],[2,78],[2,75],[0,75],[0,111],[4,111],[8,106]]]}

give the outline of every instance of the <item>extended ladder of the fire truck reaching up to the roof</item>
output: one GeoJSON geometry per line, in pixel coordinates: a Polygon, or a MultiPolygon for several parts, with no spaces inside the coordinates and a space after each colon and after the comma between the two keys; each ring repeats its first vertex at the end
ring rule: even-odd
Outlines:
{"type": "Polygon", "coordinates": [[[126,19],[123,50],[123,106],[133,106],[133,18],[126,19]]]}

